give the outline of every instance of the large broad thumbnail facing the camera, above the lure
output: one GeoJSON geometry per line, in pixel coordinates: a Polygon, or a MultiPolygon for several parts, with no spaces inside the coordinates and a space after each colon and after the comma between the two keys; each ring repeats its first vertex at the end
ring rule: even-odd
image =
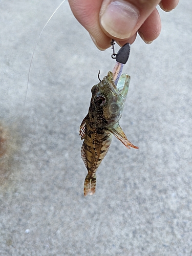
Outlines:
{"type": "Polygon", "coordinates": [[[113,0],[104,11],[101,8],[100,24],[113,37],[129,38],[138,19],[139,11],[124,0],[113,0]]]}

